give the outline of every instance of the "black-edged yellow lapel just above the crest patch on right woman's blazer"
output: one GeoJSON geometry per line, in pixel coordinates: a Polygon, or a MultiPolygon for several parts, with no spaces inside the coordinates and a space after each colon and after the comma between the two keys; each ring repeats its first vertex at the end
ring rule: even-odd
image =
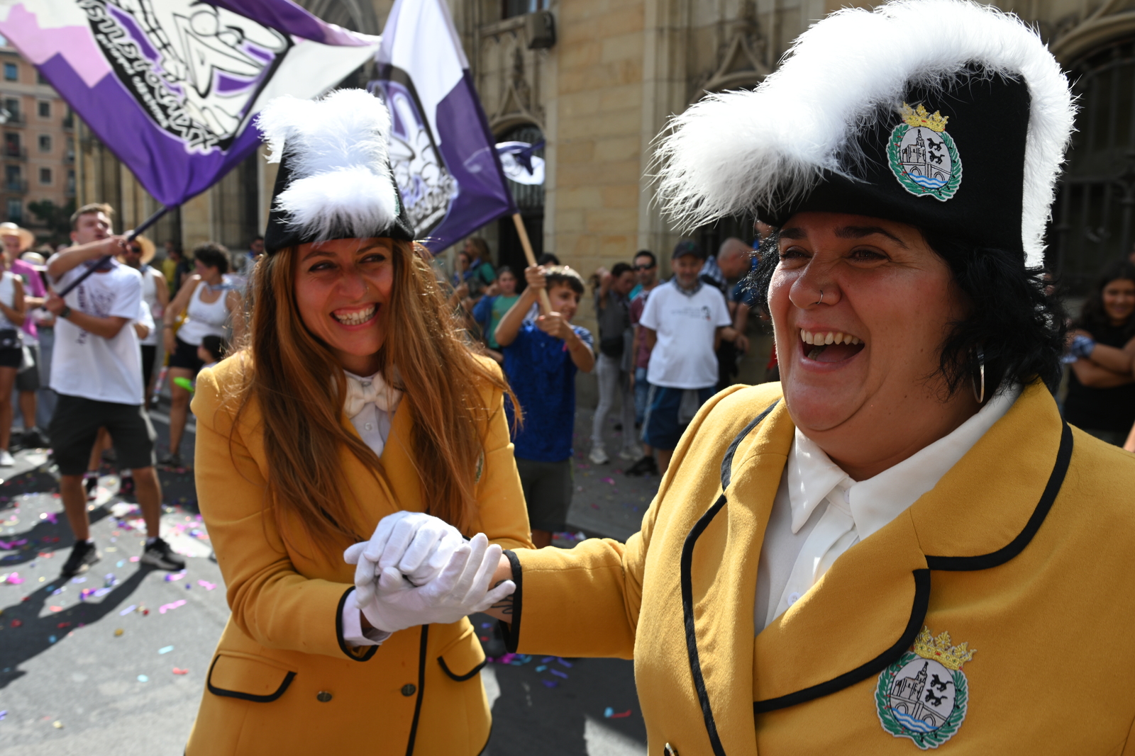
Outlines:
{"type": "Polygon", "coordinates": [[[1051,396],[1028,387],[934,489],[849,549],[756,637],[755,711],[878,674],[922,629],[931,570],[987,569],[1020,553],[1043,526],[1070,456],[1071,433],[1051,396]]]}

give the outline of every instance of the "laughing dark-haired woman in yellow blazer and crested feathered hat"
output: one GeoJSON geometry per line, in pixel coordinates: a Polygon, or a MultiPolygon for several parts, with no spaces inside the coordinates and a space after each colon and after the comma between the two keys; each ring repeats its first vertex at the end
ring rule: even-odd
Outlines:
{"type": "Polygon", "coordinates": [[[840,11],[681,116],[663,197],[777,228],[782,383],[701,408],[627,544],[506,553],[511,649],[633,657],[651,756],[1135,754],[1135,458],[1045,385],[1071,117],[953,0],[840,11]]]}

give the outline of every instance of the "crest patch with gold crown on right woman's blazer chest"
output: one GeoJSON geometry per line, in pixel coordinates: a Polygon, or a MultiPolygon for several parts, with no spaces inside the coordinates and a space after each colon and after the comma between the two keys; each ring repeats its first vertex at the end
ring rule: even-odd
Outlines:
{"type": "Polygon", "coordinates": [[[968,643],[950,645],[950,634],[931,637],[923,627],[914,651],[883,670],[875,687],[875,708],[883,729],[910,738],[923,750],[953,737],[966,719],[969,683],[961,665],[974,657],[968,643]]]}

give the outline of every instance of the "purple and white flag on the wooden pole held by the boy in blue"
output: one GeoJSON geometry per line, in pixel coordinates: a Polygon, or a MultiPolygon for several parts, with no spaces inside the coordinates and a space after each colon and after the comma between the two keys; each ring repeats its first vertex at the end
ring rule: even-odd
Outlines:
{"type": "Polygon", "coordinates": [[[516,212],[444,0],[395,0],[371,91],[390,109],[394,176],[427,247],[516,212]]]}

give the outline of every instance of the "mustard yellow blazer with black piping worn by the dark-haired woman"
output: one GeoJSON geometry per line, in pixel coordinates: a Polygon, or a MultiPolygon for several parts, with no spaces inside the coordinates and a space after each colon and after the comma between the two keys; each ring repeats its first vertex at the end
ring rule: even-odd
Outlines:
{"type": "Polygon", "coordinates": [[[1135,754],[1135,457],[1032,385],[754,638],[780,399],[708,402],[625,545],[512,554],[511,648],[633,656],[651,756],[1135,754]],[[943,696],[949,727],[927,710],[943,696]]]}

